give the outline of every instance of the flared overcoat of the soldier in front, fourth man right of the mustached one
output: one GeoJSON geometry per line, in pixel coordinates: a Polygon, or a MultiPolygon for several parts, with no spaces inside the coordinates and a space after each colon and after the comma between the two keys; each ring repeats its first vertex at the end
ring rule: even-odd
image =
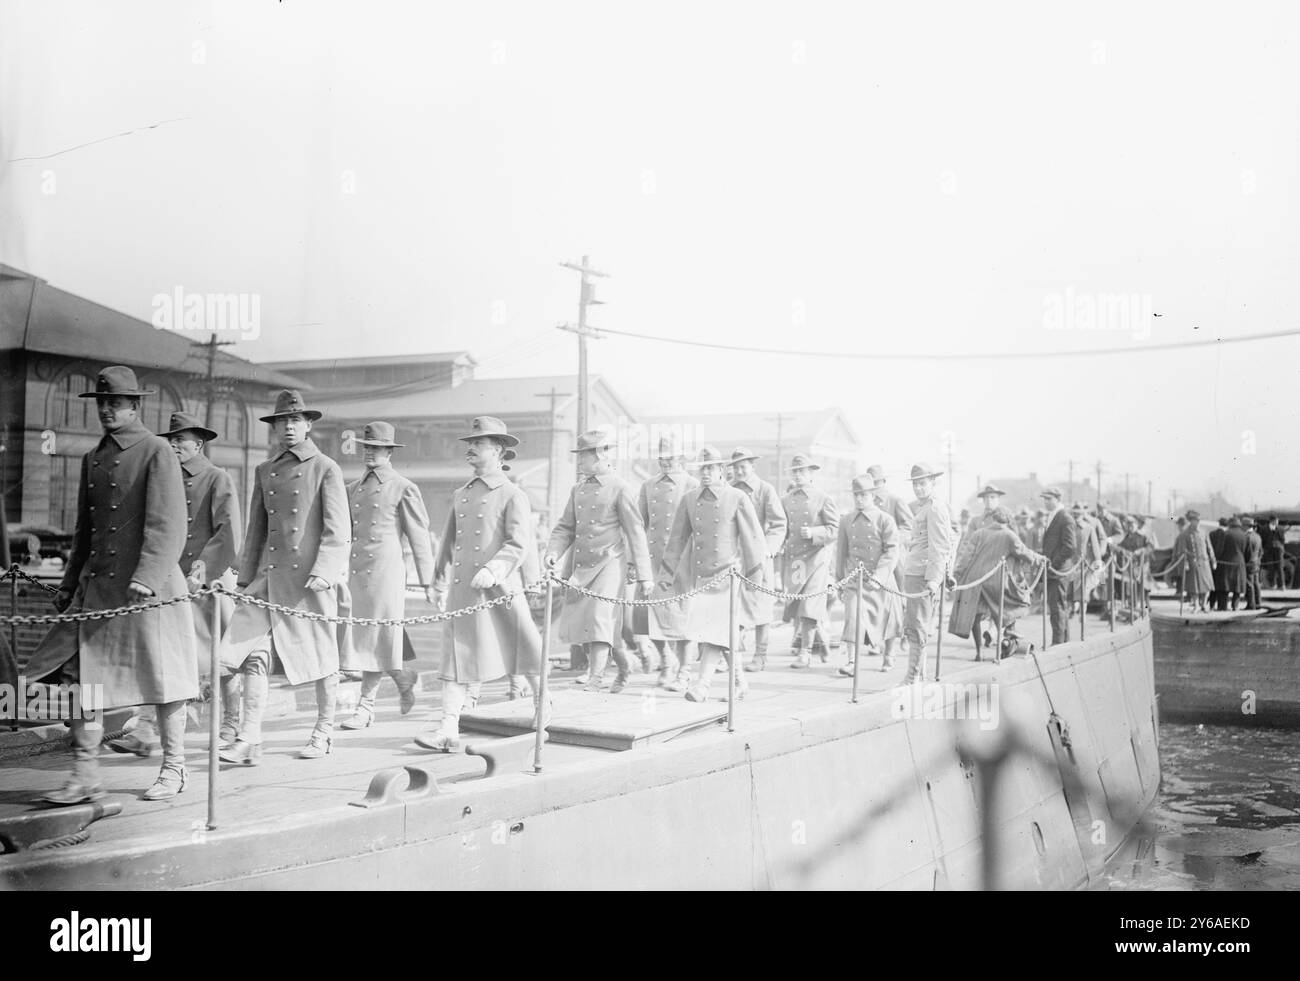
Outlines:
{"type": "MultiPolygon", "coordinates": [[[[763,528],[749,495],[723,483],[698,487],[677,504],[663,564],[685,589],[693,590],[732,565],[754,578],[764,555],[763,528]]],[[[737,602],[736,628],[746,626],[754,626],[754,620],[737,602]]],[[[686,638],[731,647],[729,580],[690,598],[686,638]]]]}

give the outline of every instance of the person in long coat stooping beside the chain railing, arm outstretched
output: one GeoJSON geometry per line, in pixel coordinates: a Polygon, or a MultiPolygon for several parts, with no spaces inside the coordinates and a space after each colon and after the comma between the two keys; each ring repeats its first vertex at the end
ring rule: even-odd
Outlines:
{"type": "Polygon", "coordinates": [[[992,643],[992,635],[980,625],[984,617],[988,617],[993,626],[1002,629],[1002,637],[1015,637],[1015,621],[1028,611],[1031,602],[1023,585],[1028,574],[1024,565],[1043,559],[1011,529],[1009,508],[998,505],[989,517],[991,524],[971,535],[970,551],[958,560],[953,577],[958,586],[965,586],[988,576],[1004,560],[1008,561],[1006,574],[993,573],[975,589],[953,590],[953,612],[948,620],[949,633],[961,638],[975,635],[976,654],[980,651],[982,639],[985,644],[992,643]],[[1022,563],[1024,565],[1015,568],[1015,564],[1022,563]]]}

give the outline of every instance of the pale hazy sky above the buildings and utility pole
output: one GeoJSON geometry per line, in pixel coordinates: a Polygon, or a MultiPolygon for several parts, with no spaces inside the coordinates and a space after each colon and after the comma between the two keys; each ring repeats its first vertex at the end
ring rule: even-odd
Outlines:
{"type": "MultiPolygon", "coordinates": [[[[1288,330],[1297,27],[1288,3],[6,0],[0,261],[144,318],[177,286],[257,295],[252,360],[465,348],[484,376],[573,369],[556,264],[584,252],[612,273],[593,324],[720,343],[1288,330]],[[1131,301],[1089,329],[1104,295],[1131,301]]],[[[890,468],[950,431],[959,492],[1100,457],[1157,508],[1300,500],[1300,338],[592,352],[647,413],[838,404],[890,468]]]]}

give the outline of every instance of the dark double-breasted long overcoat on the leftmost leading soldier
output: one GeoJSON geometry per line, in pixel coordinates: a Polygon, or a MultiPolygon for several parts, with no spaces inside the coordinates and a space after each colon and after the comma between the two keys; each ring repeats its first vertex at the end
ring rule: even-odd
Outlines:
{"type": "MultiPolygon", "coordinates": [[[[73,594],[66,613],[130,604],[131,581],[153,590],[153,603],[186,594],[181,465],[166,440],[138,420],[105,434],[82,457],[77,530],[60,589],[73,594]]],[[[60,622],[26,665],[32,681],[79,656],[78,681],[101,685],[103,708],[161,704],[199,694],[190,603],[86,622],[60,622]]],[[[96,689],[83,690],[91,706],[96,689]]]]}

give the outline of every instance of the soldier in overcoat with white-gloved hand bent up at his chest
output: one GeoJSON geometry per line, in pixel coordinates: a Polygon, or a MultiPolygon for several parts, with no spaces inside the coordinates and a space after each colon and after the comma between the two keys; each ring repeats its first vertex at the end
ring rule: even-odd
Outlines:
{"type": "MultiPolygon", "coordinates": [[[[794,622],[792,668],[809,667],[814,637],[827,621],[824,590],[831,585],[840,512],[835,499],[814,486],[814,472],[820,469],[822,465],[806,453],[794,453],[789,466],[794,487],[781,499],[788,521],[781,548],[781,581],[786,592],[803,594],[785,604],[783,616],[785,622],[794,622]]],[[[829,656],[824,647],[820,654],[823,661],[829,656]]]]}

